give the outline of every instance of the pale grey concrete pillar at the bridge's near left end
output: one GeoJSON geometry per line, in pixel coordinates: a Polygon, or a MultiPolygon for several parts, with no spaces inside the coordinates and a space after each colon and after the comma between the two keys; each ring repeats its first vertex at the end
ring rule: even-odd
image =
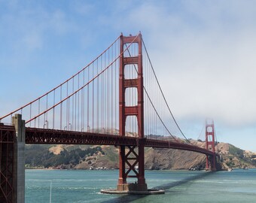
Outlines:
{"type": "Polygon", "coordinates": [[[12,117],[16,139],[14,143],[14,202],[25,202],[25,121],[20,114],[12,117]]]}

